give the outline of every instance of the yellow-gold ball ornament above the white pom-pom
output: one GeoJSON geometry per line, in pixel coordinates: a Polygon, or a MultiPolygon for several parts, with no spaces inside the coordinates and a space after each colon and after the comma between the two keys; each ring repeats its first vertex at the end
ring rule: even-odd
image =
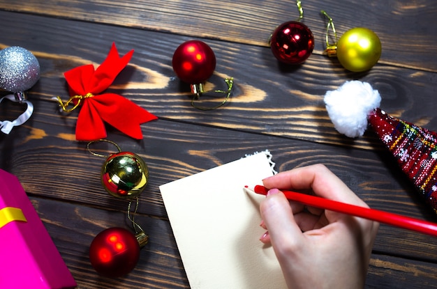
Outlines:
{"type": "Polygon", "coordinates": [[[363,72],[372,68],[382,52],[381,42],[376,33],[364,27],[346,31],[336,46],[339,62],[353,72],[363,72]]]}

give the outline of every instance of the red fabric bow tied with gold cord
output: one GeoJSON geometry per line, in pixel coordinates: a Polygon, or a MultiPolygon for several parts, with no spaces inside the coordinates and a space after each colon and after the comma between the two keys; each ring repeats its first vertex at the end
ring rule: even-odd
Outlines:
{"type": "Polygon", "coordinates": [[[112,84],[131,60],[132,54],[133,50],[120,57],[112,43],[108,56],[96,70],[94,65],[89,64],[64,73],[73,102],[82,102],[76,123],[77,141],[105,139],[107,134],[103,121],[134,139],[142,139],[140,124],[157,119],[121,95],[99,94],[112,84]]]}

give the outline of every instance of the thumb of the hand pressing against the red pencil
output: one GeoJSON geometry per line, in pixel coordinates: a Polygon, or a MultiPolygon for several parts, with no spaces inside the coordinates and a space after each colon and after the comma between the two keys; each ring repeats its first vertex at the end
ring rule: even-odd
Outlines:
{"type": "Polygon", "coordinates": [[[267,198],[260,204],[260,213],[274,248],[295,247],[303,239],[290,203],[278,189],[269,190],[267,198]]]}

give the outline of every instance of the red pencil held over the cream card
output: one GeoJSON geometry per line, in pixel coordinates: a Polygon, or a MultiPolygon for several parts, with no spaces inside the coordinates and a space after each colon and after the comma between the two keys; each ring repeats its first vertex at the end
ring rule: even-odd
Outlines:
{"type": "MultiPolygon", "coordinates": [[[[262,195],[266,195],[268,191],[268,189],[260,185],[255,186],[253,191],[247,187],[245,187],[244,189],[262,195]]],[[[325,210],[331,210],[334,212],[341,212],[344,214],[350,214],[355,217],[378,221],[380,223],[397,226],[399,228],[406,228],[408,230],[437,237],[437,224],[431,223],[429,221],[422,221],[420,219],[414,219],[402,216],[400,214],[393,214],[390,212],[363,208],[357,205],[350,205],[338,201],[328,200],[326,198],[320,198],[318,196],[310,196],[307,194],[290,191],[281,192],[286,195],[286,198],[288,198],[288,200],[297,201],[299,203],[303,203],[304,205],[309,205],[311,207],[325,210]]]]}

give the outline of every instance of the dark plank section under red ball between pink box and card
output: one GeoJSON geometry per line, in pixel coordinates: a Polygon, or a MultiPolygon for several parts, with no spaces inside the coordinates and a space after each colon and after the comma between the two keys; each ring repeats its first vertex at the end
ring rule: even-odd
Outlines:
{"type": "Polygon", "coordinates": [[[188,288],[188,281],[168,221],[137,217],[149,235],[140,260],[128,275],[112,279],[98,275],[89,263],[89,245],[111,227],[131,230],[124,212],[98,210],[59,201],[31,198],[78,288],[188,288]]]}

